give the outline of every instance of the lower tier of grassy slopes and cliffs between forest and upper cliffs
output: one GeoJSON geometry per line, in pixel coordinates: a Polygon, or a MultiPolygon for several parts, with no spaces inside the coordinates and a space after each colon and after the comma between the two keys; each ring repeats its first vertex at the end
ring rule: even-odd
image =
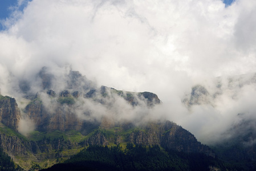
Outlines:
{"type": "Polygon", "coordinates": [[[202,145],[191,133],[170,121],[136,126],[132,123],[113,125],[109,124],[107,119],[103,119],[101,123],[91,123],[90,126],[88,130],[91,131],[87,133],[57,129],[47,132],[34,131],[23,136],[2,124],[0,143],[13,160],[24,169],[47,168],[57,162],[63,162],[84,147],[92,145],[125,146],[128,143],[143,146],[159,145],[176,152],[215,156],[212,149],[202,145]]]}

